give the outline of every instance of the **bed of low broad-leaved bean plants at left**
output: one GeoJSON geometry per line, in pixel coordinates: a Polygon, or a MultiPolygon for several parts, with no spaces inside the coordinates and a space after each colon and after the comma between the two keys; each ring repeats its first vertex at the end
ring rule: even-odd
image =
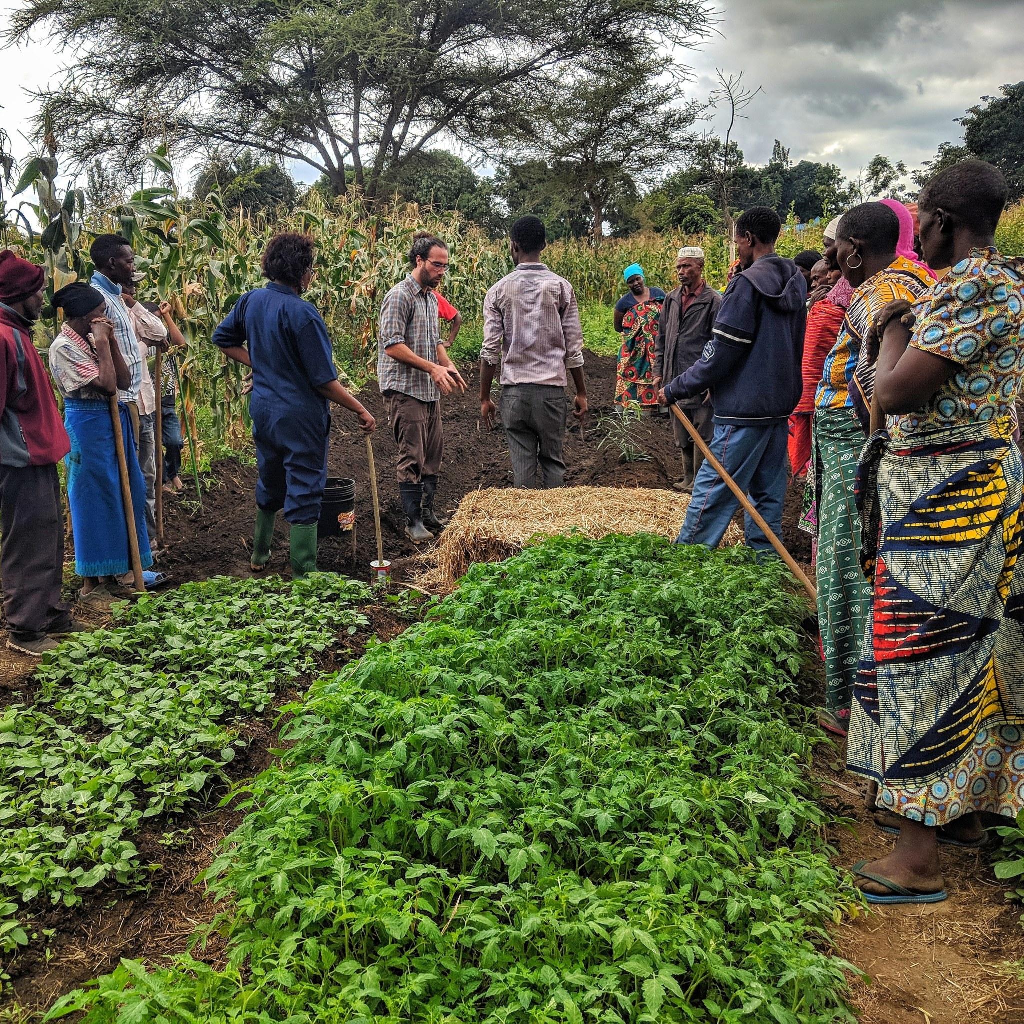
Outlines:
{"type": "Polygon", "coordinates": [[[0,941],[45,901],[74,906],[103,880],[143,877],[132,836],[222,793],[248,740],[238,723],[315,670],[367,618],[340,577],[226,578],[121,606],[37,672],[31,706],[0,717],[0,941]]]}

